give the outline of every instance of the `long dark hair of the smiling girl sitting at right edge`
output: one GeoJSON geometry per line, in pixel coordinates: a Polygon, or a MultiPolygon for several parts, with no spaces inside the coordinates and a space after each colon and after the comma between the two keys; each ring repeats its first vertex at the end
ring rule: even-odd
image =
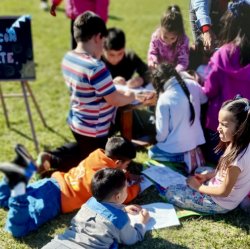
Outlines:
{"type": "MultiPolygon", "coordinates": [[[[217,169],[227,169],[241,154],[244,155],[250,143],[250,101],[246,98],[228,100],[222,104],[221,110],[230,112],[236,120],[235,133],[231,142],[231,150],[219,160],[217,169]]],[[[216,151],[223,151],[228,143],[220,141],[216,151]]]]}

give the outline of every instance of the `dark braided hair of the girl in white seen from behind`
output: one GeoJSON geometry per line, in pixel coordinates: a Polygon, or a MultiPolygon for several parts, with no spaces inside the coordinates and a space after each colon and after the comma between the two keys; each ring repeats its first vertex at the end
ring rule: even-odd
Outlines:
{"type": "MultiPolygon", "coordinates": [[[[187,96],[191,113],[190,124],[192,125],[195,119],[195,111],[194,111],[194,106],[191,102],[190,92],[187,88],[185,81],[181,78],[181,76],[177,73],[177,71],[171,64],[162,63],[158,65],[158,67],[154,69],[154,71],[152,72],[152,84],[156,90],[157,97],[159,98],[159,94],[164,92],[164,85],[172,77],[176,78],[177,82],[180,84],[182,90],[187,96]]],[[[171,82],[169,81],[169,83],[171,82]]]]}

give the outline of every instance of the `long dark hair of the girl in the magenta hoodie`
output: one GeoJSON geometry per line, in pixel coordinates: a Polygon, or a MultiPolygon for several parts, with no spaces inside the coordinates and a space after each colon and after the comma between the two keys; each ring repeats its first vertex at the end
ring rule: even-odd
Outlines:
{"type": "Polygon", "coordinates": [[[221,18],[220,45],[234,42],[240,48],[240,64],[250,63],[250,5],[246,1],[233,1],[221,18]]]}

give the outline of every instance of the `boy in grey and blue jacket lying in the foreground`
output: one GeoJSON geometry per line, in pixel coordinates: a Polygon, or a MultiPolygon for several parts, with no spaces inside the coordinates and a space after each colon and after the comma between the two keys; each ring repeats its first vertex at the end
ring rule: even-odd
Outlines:
{"type": "Polygon", "coordinates": [[[143,239],[149,214],[140,206],[122,205],[127,198],[122,170],[97,171],[91,181],[91,192],[93,197],[82,205],[70,227],[43,249],[118,248],[118,243],[132,245],[143,239]],[[140,223],[132,226],[127,213],[139,213],[140,223]]]}

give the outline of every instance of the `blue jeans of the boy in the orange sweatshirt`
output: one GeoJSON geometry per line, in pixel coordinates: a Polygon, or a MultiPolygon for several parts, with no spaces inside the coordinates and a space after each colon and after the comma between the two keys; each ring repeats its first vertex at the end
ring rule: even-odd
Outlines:
{"type": "Polygon", "coordinates": [[[53,178],[27,186],[26,193],[10,196],[9,186],[0,182],[0,206],[9,208],[5,229],[14,237],[22,237],[36,230],[61,212],[61,191],[53,178]]]}

